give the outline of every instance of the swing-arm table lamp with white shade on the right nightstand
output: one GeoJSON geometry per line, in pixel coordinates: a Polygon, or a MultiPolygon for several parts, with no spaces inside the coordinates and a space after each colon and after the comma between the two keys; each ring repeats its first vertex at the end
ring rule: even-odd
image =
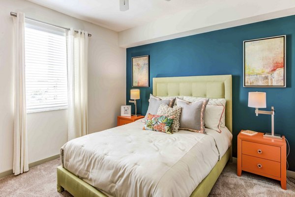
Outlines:
{"type": "Polygon", "coordinates": [[[274,134],[274,107],[271,107],[271,111],[259,110],[259,108],[266,108],[266,92],[249,92],[248,107],[256,108],[256,116],[258,116],[259,113],[271,115],[271,134],[265,133],[264,137],[282,139],[281,135],[274,134]]]}

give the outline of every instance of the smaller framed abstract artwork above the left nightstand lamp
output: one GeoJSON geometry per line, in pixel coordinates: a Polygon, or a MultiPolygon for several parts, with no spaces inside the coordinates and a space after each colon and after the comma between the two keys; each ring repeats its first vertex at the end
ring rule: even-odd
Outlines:
{"type": "Polygon", "coordinates": [[[132,57],[132,87],[149,86],[149,56],[132,57]]]}

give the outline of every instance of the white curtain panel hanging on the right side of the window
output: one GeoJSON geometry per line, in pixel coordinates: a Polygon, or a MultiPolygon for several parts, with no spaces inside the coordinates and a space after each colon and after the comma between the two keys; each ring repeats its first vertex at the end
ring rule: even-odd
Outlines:
{"type": "Polygon", "coordinates": [[[88,134],[88,32],[67,33],[68,140],[88,134]]]}

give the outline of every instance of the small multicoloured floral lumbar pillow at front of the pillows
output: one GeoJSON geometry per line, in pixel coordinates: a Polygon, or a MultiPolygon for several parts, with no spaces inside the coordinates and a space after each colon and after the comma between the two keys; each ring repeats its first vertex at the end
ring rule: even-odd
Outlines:
{"type": "Polygon", "coordinates": [[[173,134],[172,124],[174,116],[153,115],[148,113],[146,124],[143,130],[159,131],[167,134],[173,134]]]}

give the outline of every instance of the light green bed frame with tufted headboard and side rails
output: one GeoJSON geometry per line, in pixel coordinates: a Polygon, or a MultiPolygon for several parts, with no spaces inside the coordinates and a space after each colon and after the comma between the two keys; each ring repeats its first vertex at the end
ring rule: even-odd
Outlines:
{"type": "MultiPolygon", "coordinates": [[[[194,96],[206,98],[225,98],[225,125],[232,132],[232,76],[192,76],[153,78],[155,96],[194,96]]],[[[228,161],[232,161],[232,147],[217,162],[190,197],[207,197],[228,161]]],[[[89,185],[67,169],[57,168],[57,190],[67,190],[74,197],[108,197],[89,185]]]]}

